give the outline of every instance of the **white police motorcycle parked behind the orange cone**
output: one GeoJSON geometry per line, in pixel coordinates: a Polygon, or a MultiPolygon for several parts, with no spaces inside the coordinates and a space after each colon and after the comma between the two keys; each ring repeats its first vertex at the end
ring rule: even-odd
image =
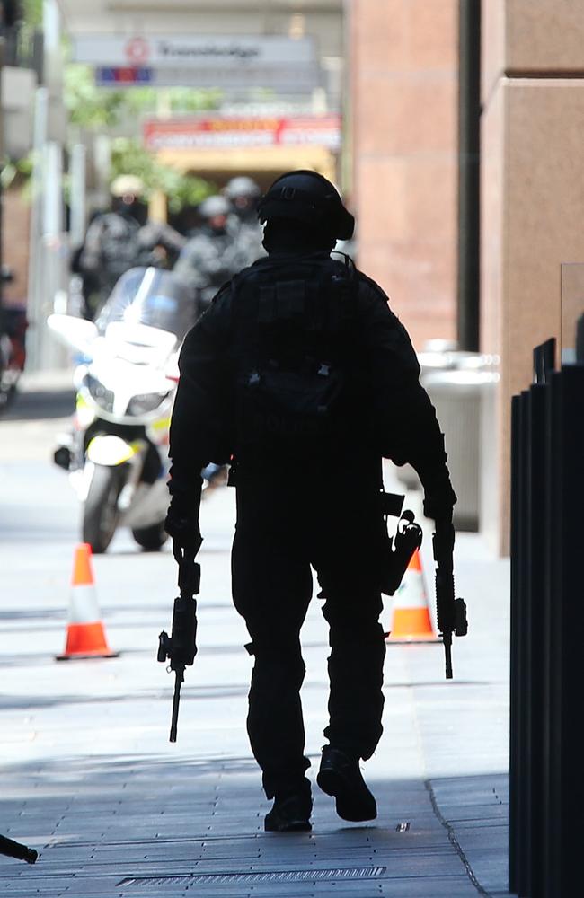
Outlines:
{"type": "Polygon", "coordinates": [[[119,278],[95,323],[50,315],[75,350],[72,432],[55,462],[83,503],[83,541],[104,552],[117,527],[145,550],[166,540],[168,433],[181,341],[195,306],[170,271],[134,268],[119,278]]]}

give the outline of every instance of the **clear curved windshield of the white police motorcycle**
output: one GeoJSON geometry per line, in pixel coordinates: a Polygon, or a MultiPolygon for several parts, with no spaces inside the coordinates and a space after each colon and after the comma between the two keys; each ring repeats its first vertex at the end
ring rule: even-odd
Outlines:
{"type": "Polygon", "coordinates": [[[113,322],[145,324],[182,339],[195,322],[195,309],[185,286],[172,271],[129,269],[119,278],[95,324],[104,334],[113,322]]]}

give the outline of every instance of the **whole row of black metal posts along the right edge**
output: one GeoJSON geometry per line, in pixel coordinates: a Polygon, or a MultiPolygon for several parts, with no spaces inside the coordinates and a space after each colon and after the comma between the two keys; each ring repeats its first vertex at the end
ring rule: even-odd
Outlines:
{"type": "MultiPolygon", "coordinates": [[[[581,326],[581,325],[580,325],[581,326]]],[[[584,358],[553,369],[511,411],[509,891],[580,892],[584,602],[584,358]]]]}

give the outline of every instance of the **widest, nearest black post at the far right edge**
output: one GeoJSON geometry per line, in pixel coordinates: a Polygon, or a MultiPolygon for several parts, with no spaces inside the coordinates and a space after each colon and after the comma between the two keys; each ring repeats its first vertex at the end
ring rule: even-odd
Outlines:
{"type": "Polygon", "coordinates": [[[545,898],[581,891],[581,514],[584,506],[584,366],[552,375],[552,713],[549,744],[550,850],[545,898]]]}

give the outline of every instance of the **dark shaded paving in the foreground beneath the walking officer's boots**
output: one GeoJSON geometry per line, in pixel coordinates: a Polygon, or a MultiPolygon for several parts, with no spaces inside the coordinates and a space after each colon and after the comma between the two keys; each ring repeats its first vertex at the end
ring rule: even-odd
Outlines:
{"type": "Polygon", "coordinates": [[[332,885],[362,898],[508,894],[502,774],[378,780],[379,816],[366,824],[342,821],[314,788],[313,832],[281,835],[263,832],[269,803],[246,757],[72,756],[12,765],[4,783],[0,825],[40,850],[34,870],[0,858],[14,894],[24,894],[24,876],[30,894],[42,878],[49,898],[178,898],[201,888],[206,898],[308,898],[332,885]],[[295,884],[296,874],[305,878],[295,884]],[[250,876],[253,885],[243,885],[250,876]]]}

